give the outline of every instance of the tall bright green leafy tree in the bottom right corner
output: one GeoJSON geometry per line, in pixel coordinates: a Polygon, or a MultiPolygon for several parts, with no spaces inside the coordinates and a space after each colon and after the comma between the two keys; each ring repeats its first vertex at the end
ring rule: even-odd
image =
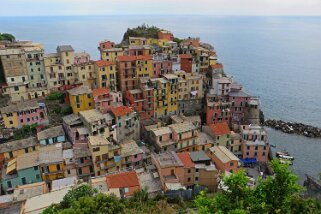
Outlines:
{"type": "Polygon", "coordinates": [[[275,176],[259,180],[255,188],[247,186],[248,178],[240,171],[224,178],[226,191],[214,197],[202,192],[195,199],[199,213],[321,213],[320,203],[300,196],[298,178],[287,165],[271,163],[275,176]]]}

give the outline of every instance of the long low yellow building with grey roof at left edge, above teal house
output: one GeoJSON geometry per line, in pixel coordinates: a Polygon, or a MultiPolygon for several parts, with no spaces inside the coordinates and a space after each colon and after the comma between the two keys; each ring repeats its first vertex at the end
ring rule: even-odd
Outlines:
{"type": "Polygon", "coordinates": [[[0,144],[0,154],[4,154],[5,159],[16,158],[19,155],[38,150],[39,144],[36,137],[0,144]]]}

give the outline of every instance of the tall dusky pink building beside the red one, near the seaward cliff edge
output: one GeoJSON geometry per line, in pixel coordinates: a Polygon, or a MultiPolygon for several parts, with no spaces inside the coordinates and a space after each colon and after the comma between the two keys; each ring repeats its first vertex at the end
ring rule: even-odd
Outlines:
{"type": "Polygon", "coordinates": [[[243,91],[243,86],[232,83],[229,92],[229,102],[231,103],[231,122],[244,124],[245,112],[247,111],[248,100],[251,98],[249,94],[243,91]]]}

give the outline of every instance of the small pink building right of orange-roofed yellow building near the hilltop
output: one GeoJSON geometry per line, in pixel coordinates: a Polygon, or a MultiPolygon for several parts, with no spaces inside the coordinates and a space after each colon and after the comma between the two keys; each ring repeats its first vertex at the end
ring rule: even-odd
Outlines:
{"type": "Polygon", "coordinates": [[[153,78],[172,72],[172,61],[166,54],[153,56],[153,78]]]}

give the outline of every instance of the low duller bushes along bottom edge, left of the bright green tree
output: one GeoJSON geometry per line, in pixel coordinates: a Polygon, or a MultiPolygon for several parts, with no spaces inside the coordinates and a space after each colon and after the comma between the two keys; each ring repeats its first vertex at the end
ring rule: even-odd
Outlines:
{"type": "Polygon", "coordinates": [[[66,213],[173,213],[174,209],[164,197],[151,199],[146,190],[137,191],[134,196],[120,200],[114,195],[97,193],[85,184],[69,191],[59,204],[52,204],[43,214],[66,213]]]}

